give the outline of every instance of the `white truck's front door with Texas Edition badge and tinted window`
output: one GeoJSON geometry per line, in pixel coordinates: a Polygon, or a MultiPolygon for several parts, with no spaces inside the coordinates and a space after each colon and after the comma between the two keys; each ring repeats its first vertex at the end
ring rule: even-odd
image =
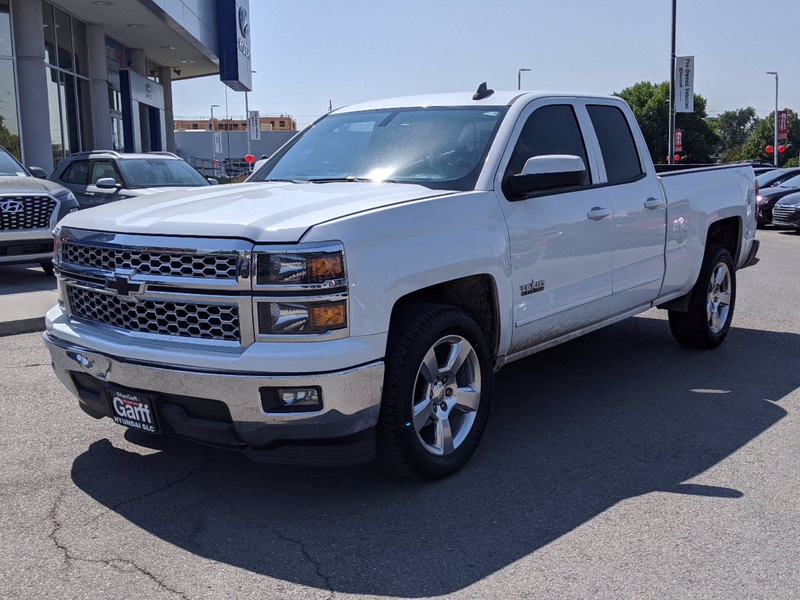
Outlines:
{"type": "Polygon", "coordinates": [[[514,294],[511,352],[525,350],[606,318],[611,295],[610,203],[587,151],[580,101],[534,102],[523,111],[496,181],[510,234],[514,294]],[[571,154],[587,168],[581,185],[515,197],[507,178],[528,158],[571,154]]]}

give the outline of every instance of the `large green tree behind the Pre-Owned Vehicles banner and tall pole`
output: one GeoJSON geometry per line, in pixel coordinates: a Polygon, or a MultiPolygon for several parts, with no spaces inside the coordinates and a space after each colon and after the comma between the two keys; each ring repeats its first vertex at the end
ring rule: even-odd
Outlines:
{"type": "MultiPolygon", "coordinates": [[[[638,82],[614,92],[634,111],[653,162],[666,162],[669,149],[670,84],[638,82]]],[[[678,113],[675,127],[683,130],[683,155],[688,162],[711,162],[718,136],[706,118],[706,98],[694,94],[694,113],[678,113]]]]}

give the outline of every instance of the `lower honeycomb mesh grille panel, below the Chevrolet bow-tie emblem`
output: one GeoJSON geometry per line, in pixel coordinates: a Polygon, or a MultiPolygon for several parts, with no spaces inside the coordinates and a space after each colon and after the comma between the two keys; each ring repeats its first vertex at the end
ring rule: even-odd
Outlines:
{"type": "Polygon", "coordinates": [[[75,317],[142,334],[240,342],[238,305],[135,300],[67,286],[75,317]]]}

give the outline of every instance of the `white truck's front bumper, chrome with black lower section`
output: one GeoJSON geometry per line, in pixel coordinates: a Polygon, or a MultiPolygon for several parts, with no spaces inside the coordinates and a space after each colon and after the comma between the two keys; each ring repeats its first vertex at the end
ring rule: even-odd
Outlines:
{"type": "Polygon", "coordinates": [[[44,334],[53,369],[81,407],[110,416],[106,383],[158,394],[166,434],[242,450],[251,458],[289,464],[357,464],[374,457],[374,426],[383,362],[318,374],[230,373],[153,365],[102,354],[44,334]],[[266,413],[262,387],[319,386],[322,410],[266,413]]]}

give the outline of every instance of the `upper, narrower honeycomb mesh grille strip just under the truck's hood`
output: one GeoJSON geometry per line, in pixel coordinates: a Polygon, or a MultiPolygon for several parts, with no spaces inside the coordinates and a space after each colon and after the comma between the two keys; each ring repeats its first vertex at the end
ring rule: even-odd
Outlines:
{"type": "Polygon", "coordinates": [[[64,242],[62,262],[101,270],[132,270],[145,275],[230,279],[235,281],[238,253],[193,254],[87,246],[64,242]]]}

